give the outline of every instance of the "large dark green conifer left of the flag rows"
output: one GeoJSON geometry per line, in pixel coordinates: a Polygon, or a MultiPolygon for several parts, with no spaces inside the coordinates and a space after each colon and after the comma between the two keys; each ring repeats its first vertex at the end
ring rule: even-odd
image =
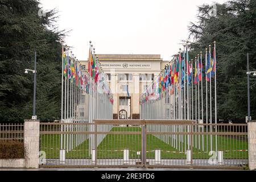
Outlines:
{"type": "Polygon", "coordinates": [[[52,10],[40,17],[37,0],[0,0],[0,122],[31,118],[34,52],[38,54],[36,115],[60,117],[61,43],[63,31],[53,26],[52,10]]]}

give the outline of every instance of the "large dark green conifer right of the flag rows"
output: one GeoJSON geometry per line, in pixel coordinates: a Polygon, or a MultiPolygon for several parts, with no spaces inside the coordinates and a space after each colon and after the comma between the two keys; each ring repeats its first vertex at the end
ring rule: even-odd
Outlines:
{"type": "MultiPolygon", "coordinates": [[[[217,16],[208,14],[211,7],[199,7],[199,22],[189,26],[195,54],[217,42],[217,104],[218,117],[244,122],[247,115],[247,62],[256,69],[256,2],[233,0],[217,4],[217,16]]],[[[251,90],[256,79],[251,78],[251,90]]],[[[214,92],[214,90],[212,90],[214,92]]],[[[255,91],[254,91],[255,92],[255,91]]],[[[251,117],[256,117],[256,95],[251,94],[251,117]]]]}

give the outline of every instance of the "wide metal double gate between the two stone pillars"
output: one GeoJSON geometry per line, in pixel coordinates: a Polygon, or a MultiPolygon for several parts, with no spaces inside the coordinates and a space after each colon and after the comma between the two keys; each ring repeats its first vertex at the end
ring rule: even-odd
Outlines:
{"type": "Polygon", "coordinates": [[[45,156],[41,167],[241,168],[248,163],[247,145],[246,124],[164,120],[40,124],[40,151],[45,156]]]}

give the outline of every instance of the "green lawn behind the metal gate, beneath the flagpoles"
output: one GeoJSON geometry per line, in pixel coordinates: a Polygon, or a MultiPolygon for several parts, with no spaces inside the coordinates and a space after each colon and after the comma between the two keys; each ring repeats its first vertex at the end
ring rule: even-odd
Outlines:
{"type": "MultiPolygon", "coordinates": [[[[112,131],[119,132],[140,132],[139,127],[114,127],[112,131]]],[[[70,135],[71,136],[71,135],[70,135]]],[[[76,135],[73,135],[73,142],[76,142],[76,135]]],[[[70,137],[72,139],[72,137],[70,137]]],[[[63,137],[64,139],[64,137],[63,137]]],[[[166,142],[160,140],[154,135],[147,135],[147,159],[155,159],[155,150],[161,150],[162,159],[185,159],[185,151],[188,149],[188,144],[185,139],[182,140],[178,137],[172,139],[166,136],[166,142]],[[177,143],[177,148],[171,144],[177,143]]],[[[213,151],[216,147],[216,137],[212,137],[213,151]]],[[[203,137],[194,137],[193,139],[193,159],[209,159],[210,151],[210,136],[204,136],[204,151],[203,151],[203,137]],[[197,146],[196,146],[197,143],[197,146]],[[199,149],[200,143],[200,149],[199,149]],[[208,147],[207,147],[208,145],[208,147]]],[[[122,159],[123,149],[129,149],[130,159],[140,159],[141,155],[137,154],[141,151],[141,134],[109,134],[97,147],[97,159],[122,159]]],[[[60,152],[60,135],[41,135],[40,137],[40,150],[46,152],[47,158],[56,159],[59,158],[60,152]]],[[[217,136],[217,150],[224,151],[224,159],[247,159],[247,141],[240,138],[233,137],[221,137],[217,136]],[[242,142],[243,141],[243,142],[242,142]],[[243,150],[243,151],[239,151],[243,150]]],[[[71,151],[66,152],[67,159],[90,159],[89,155],[89,140],[85,139],[84,142],[79,144],[77,147],[72,148],[71,151]]]]}

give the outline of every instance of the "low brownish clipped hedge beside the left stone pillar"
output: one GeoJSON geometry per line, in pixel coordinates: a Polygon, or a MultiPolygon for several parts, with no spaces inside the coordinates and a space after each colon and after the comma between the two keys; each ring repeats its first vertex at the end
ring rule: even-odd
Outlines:
{"type": "Polygon", "coordinates": [[[0,140],[0,159],[23,159],[24,143],[13,140],[0,140]]]}

